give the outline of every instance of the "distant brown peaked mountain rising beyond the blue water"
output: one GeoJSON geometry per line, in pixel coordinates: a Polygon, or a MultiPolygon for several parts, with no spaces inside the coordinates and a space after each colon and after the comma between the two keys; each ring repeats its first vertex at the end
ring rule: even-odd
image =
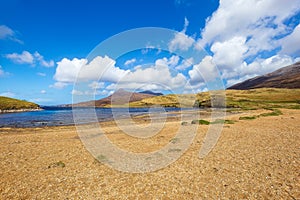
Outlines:
{"type": "MultiPolygon", "coordinates": [[[[150,91],[151,92],[151,91],[150,91]]],[[[96,106],[96,107],[106,107],[110,105],[124,105],[129,102],[140,101],[145,98],[150,98],[155,95],[155,93],[151,92],[147,93],[138,93],[138,92],[129,92],[124,89],[119,89],[112,95],[105,97],[103,99],[99,99],[96,101],[87,101],[74,104],[75,106],[96,106]]],[[[70,105],[72,106],[72,105],[70,105]]]]}

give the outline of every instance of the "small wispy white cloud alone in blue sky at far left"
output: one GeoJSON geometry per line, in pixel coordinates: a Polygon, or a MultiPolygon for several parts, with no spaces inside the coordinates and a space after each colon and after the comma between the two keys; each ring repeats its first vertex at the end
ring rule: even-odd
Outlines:
{"type": "Polygon", "coordinates": [[[5,57],[12,60],[15,63],[18,63],[18,64],[35,65],[35,64],[39,63],[41,66],[44,66],[44,67],[53,67],[54,66],[53,60],[50,60],[50,61],[44,60],[44,57],[41,54],[39,54],[38,52],[31,54],[28,51],[23,51],[21,54],[18,54],[18,53],[6,54],[5,57]]]}

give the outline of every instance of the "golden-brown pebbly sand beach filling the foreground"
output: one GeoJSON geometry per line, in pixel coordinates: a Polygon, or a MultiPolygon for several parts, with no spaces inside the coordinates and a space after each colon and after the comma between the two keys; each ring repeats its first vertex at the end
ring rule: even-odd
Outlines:
{"type": "MultiPolygon", "coordinates": [[[[300,111],[239,120],[266,110],[228,115],[213,150],[199,158],[208,125],[188,150],[150,173],[125,173],[97,161],[74,126],[0,129],[0,199],[300,199],[300,111]]],[[[147,139],[102,124],[120,148],[151,152],[169,143],[181,120],[147,139]]],[[[138,123],[142,122],[141,120],[138,123]]]]}

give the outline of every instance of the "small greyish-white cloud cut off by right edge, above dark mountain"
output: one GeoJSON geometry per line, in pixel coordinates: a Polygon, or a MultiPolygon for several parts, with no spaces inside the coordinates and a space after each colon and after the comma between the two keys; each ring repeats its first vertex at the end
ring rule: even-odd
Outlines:
{"type": "Polygon", "coordinates": [[[300,55],[300,25],[287,37],[280,40],[282,45],[281,53],[300,55]]]}

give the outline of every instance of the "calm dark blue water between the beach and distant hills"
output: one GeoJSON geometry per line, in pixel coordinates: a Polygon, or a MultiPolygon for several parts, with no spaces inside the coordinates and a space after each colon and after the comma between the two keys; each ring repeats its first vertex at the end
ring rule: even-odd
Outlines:
{"type": "MultiPolygon", "coordinates": [[[[93,122],[95,115],[91,114],[91,108],[77,108],[76,114],[81,117],[81,123],[93,122]],[[88,110],[89,109],[89,110],[88,110]]],[[[114,118],[128,117],[132,115],[147,114],[153,112],[180,111],[181,108],[96,108],[95,113],[98,121],[108,121],[114,118]],[[165,111],[164,111],[165,110],[165,111]]],[[[94,113],[94,112],[93,112],[94,113]]],[[[44,110],[21,113],[0,114],[0,127],[44,127],[74,124],[72,108],[44,107],[44,110]]]]}

